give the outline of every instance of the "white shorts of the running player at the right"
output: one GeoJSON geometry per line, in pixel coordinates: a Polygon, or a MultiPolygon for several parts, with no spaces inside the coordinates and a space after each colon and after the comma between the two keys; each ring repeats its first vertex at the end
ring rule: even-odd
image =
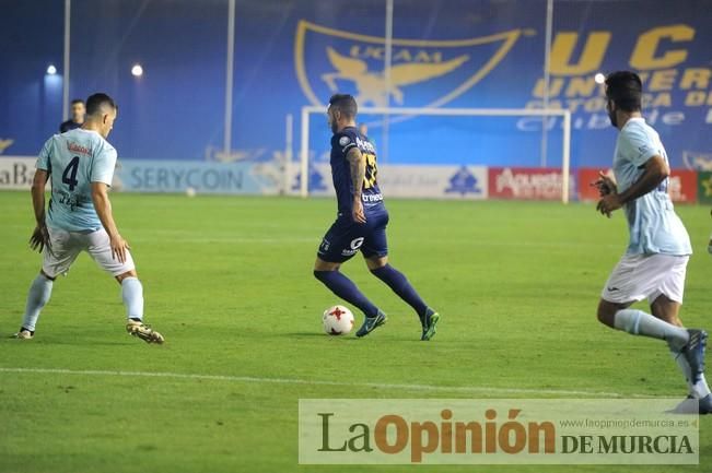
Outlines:
{"type": "Polygon", "coordinates": [[[685,273],[690,257],[672,255],[623,255],[608,276],[600,297],[616,304],[647,299],[661,295],[682,304],[685,273]]]}

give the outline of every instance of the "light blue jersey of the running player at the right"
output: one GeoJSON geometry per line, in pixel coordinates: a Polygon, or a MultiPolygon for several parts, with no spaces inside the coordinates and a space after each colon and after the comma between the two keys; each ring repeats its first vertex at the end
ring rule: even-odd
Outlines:
{"type": "MultiPolygon", "coordinates": [[[[625,192],[640,179],[645,163],[655,155],[668,163],[657,132],[643,118],[629,119],[616,142],[614,174],[618,192],[625,192]]],[[[629,255],[692,255],[690,237],[667,193],[668,180],[625,205],[630,229],[629,255]]]]}

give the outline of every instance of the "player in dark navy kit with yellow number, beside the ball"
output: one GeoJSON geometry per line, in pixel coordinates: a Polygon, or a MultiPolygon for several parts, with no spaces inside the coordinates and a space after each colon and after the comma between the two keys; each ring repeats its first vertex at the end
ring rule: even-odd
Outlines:
{"type": "Polygon", "coordinates": [[[410,305],[422,327],[420,340],[435,334],[440,316],[410,285],[406,276],[388,264],[386,225],[388,212],[378,189],[376,151],[355,128],[357,103],[351,95],[336,94],[329,99],[331,176],[338,202],[338,216],[319,246],[314,275],[334,294],[363,311],[365,320],[357,336],[365,336],[386,322],[386,315],[339,272],[341,264],[359,250],[371,274],[386,283],[410,305]]]}

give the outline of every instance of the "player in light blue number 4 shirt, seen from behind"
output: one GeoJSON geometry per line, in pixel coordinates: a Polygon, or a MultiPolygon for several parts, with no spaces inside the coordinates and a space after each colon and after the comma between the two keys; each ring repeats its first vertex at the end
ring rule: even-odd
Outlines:
{"type": "Polygon", "coordinates": [[[108,95],[92,95],[86,100],[82,128],[55,134],[39,153],[32,186],[37,226],[30,244],[43,253],[44,260],[30,287],[17,339],[34,336],[37,318],[49,300],[56,277],[66,274],[79,253],[86,251],[121,285],[128,319],[126,330],[148,343],[163,343],[163,336],[142,322],[143,287],[108,200],[117,155],[106,138],[116,114],[116,104],[108,95]],[[51,179],[51,198],[45,215],[48,179],[51,179]]]}

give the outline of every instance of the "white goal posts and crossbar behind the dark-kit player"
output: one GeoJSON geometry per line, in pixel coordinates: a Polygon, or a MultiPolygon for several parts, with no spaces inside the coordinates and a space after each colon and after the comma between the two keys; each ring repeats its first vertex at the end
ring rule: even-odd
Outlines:
{"type": "MultiPolygon", "coordinates": [[[[301,190],[303,198],[308,197],[308,166],[310,166],[310,116],[326,114],[325,107],[302,107],[302,143],[301,159],[301,190]]],[[[443,117],[562,117],[562,152],[561,152],[561,201],[569,202],[569,173],[571,164],[571,111],[552,108],[418,108],[418,107],[362,107],[359,114],[389,115],[389,116],[443,116],[443,117]]]]}

